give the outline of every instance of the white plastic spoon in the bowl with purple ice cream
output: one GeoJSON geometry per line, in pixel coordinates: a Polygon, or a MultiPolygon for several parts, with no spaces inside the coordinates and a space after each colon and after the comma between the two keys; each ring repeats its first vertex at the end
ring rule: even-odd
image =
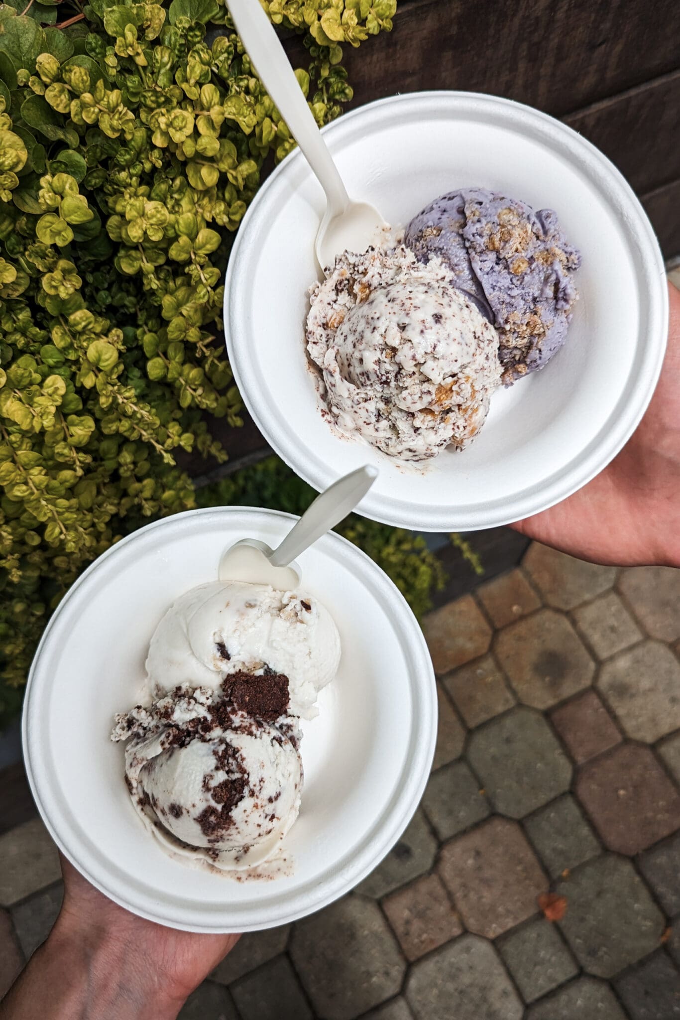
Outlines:
{"type": "Polygon", "coordinates": [[[260,0],[227,0],[248,55],[326,196],[326,212],[316,235],[322,269],[344,251],[365,252],[385,221],[372,205],[352,202],[326,143],[307,105],[300,83],[260,0]]]}

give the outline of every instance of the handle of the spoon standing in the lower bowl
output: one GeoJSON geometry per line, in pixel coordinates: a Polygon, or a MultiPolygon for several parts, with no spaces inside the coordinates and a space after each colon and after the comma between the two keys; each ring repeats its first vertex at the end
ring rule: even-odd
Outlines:
{"type": "Polygon", "coordinates": [[[354,510],[375,481],[377,467],[366,464],[333,482],[312,503],[280,546],[269,557],[272,566],[287,566],[312,543],[354,510]]]}

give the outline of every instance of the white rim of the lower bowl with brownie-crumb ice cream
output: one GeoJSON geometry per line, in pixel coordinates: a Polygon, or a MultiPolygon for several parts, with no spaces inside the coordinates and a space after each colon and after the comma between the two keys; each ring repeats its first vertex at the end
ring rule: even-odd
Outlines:
{"type": "MultiPolygon", "coordinates": [[[[79,589],[88,583],[89,578],[104,560],[116,555],[118,549],[133,545],[151,530],[176,524],[179,520],[229,513],[255,514],[293,521],[299,519],[294,514],[261,507],[207,507],[152,521],[125,536],[102,553],[76,578],[50,618],[31,666],[21,716],[21,744],[29,785],[40,815],[62,854],[96,888],[120,907],[147,920],[185,931],[255,931],[287,924],[328,906],[354,888],[389,852],[413,817],[429,777],[436,741],[437,707],[434,671],[425,639],[415,616],[394,581],[366,553],[334,531],[326,532],[319,542],[325,542],[331,548],[339,549],[338,558],[345,563],[354,559],[363,564],[364,570],[368,568],[366,588],[370,591],[371,597],[381,605],[383,612],[388,611],[391,615],[396,624],[395,631],[399,635],[405,659],[409,664],[410,690],[418,711],[411,713],[411,732],[407,757],[401,772],[402,781],[398,782],[389,801],[383,806],[377,824],[364,836],[358,847],[353,848],[338,862],[329,865],[325,879],[308,881],[293,895],[278,894],[263,898],[254,908],[238,908],[232,911],[234,918],[232,921],[225,919],[217,923],[205,923],[206,918],[201,919],[205,912],[200,907],[195,911],[180,908],[177,914],[181,917],[175,917],[171,911],[141,907],[125,896],[124,879],[120,881],[112,874],[113,869],[109,867],[108,861],[102,858],[94,843],[88,839],[88,846],[79,837],[77,828],[74,828],[65,814],[59,810],[57,795],[60,795],[60,788],[57,785],[50,788],[49,762],[43,760],[39,740],[41,726],[44,727],[47,723],[45,720],[41,722],[40,718],[36,721],[35,718],[35,713],[42,708],[42,699],[38,704],[36,698],[40,698],[45,685],[44,677],[36,678],[40,658],[62,608],[73,598],[79,589]]],[[[85,828],[77,819],[75,823],[85,828]]],[[[115,870],[124,872],[124,867],[117,866],[115,870]]],[[[268,883],[269,888],[272,885],[273,883],[268,883]]],[[[146,894],[147,901],[154,899],[157,903],[157,898],[149,892],[146,894]]],[[[226,913],[229,913],[228,907],[226,913]]]]}

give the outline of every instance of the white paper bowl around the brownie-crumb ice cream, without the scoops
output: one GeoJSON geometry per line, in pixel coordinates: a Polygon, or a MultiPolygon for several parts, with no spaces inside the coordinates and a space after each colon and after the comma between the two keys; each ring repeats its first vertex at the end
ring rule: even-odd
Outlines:
{"type": "Polygon", "coordinates": [[[167,857],[123,782],[113,715],[136,704],[151,634],[182,592],[217,575],[238,539],[275,546],[289,514],[224,507],[170,517],[113,546],[52,617],[29,677],[29,781],[57,845],[93,884],[143,917],[192,931],[249,931],[303,917],[367,875],[422,795],[436,735],[432,666],[415,617],[367,556],[326,534],[301,558],[304,585],[337,623],[343,660],[303,725],[292,873],[237,881],[167,857]]]}

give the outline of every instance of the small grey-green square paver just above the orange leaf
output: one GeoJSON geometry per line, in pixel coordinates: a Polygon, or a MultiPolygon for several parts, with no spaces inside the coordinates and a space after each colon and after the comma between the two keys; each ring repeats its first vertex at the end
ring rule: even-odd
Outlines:
{"type": "Polygon", "coordinates": [[[570,794],[527,818],[524,828],[552,878],[599,853],[595,834],[570,794]]]}

